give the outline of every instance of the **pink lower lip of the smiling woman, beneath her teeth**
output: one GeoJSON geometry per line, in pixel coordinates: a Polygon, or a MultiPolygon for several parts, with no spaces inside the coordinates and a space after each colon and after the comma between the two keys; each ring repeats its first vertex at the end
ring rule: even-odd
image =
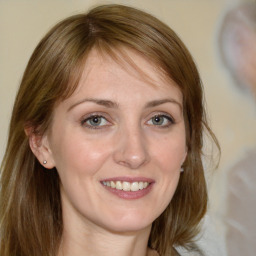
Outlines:
{"type": "Polygon", "coordinates": [[[151,191],[151,189],[153,187],[153,182],[150,183],[146,188],[144,188],[142,190],[138,190],[138,191],[118,190],[115,188],[105,186],[103,184],[102,184],[102,186],[104,186],[105,189],[107,189],[112,194],[118,196],[119,198],[132,200],[132,199],[139,199],[139,198],[146,196],[151,191]]]}

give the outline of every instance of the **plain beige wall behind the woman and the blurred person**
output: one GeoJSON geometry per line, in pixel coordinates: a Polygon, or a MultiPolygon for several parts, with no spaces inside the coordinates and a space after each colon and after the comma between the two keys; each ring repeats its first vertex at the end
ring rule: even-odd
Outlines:
{"type": "Polygon", "coordinates": [[[246,148],[256,144],[253,100],[235,89],[217,53],[216,35],[220,19],[230,2],[235,1],[0,0],[0,159],[4,153],[15,93],[39,39],[53,24],[68,15],[98,3],[113,2],[142,8],[168,23],[184,40],[198,64],[212,128],[222,147],[220,167],[214,176],[209,176],[211,212],[219,224],[217,232],[221,236],[225,231],[220,216],[225,211],[227,170],[246,148]]]}

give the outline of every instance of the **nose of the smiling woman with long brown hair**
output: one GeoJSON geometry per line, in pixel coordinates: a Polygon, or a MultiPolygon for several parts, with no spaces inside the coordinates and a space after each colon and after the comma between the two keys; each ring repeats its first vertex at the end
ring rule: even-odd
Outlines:
{"type": "Polygon", "coordinates": [[[130,169],[138,169],[149,161],[146,139],[139,128],[120,131],[116,140],[114,161],[130,169]]]}

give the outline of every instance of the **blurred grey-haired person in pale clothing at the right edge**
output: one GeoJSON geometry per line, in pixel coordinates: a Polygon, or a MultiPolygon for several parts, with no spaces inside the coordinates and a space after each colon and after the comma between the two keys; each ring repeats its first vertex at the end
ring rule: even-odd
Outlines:
{"type": "MultiPolygon", "coordinates": [[[[256,2],[239,4],[226,13],[219,46],[234,83],[256,100],[256,2]]],[[[227,178],[226,242],[230,256],[256,253],[255,181],[256,148],[251,148],[230,169],[227,178]]]]}

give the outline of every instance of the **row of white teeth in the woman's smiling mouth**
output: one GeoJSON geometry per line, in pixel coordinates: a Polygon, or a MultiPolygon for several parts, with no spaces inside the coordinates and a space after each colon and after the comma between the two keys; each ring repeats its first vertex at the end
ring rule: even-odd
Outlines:
{"type": "Polygon", "coordinates": [[[115,188],[123,191],[139,191],[148,187],[148,182],[128,182],[128,181],[103,181],[104,186],[115,188]]]}

